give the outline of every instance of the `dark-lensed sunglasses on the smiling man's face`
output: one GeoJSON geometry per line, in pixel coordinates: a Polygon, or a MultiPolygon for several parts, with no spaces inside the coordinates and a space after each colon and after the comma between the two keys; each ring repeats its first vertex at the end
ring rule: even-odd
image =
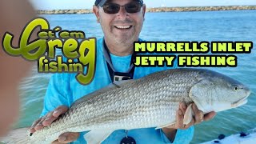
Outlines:
{"type": "MultiPolygon", "coordinates": [[[[117,14],[121,6],[117,3],[106,2],[106,4],[104,4],[102,7],[106,14],[117,14]]],[[[141,11],[141,7],[141,2],[130,2],[125,5],[127,13],[138,13],[141,11]]]]}

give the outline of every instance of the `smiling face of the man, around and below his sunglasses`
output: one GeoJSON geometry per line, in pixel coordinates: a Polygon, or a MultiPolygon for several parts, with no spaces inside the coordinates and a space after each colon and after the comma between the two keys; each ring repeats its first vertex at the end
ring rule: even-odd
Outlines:
{"type": "Polygon", "coordinates": [[[133,0],[111,0],[107,2],[116,3],[121,7],[117,14],[106,14],[102,7],[94,6],[94,13],[102,26],[105,38],[122,44],[137,41],[142,30],[146,6],[143,5],[137,13],[128,13],[124,6],[127,3],[134,2],[133,0]]]}

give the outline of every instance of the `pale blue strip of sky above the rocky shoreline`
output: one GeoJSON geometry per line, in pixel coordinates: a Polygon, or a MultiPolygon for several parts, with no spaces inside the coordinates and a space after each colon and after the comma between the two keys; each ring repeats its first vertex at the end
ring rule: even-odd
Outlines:
{"type": "MultiPolygon", "coordinates": [[[[90,9],[95,0],[30,0],[38,10],[90,9]]],[[[147,7],[256,5],[256,0],[144,0],[147,7]]]]}

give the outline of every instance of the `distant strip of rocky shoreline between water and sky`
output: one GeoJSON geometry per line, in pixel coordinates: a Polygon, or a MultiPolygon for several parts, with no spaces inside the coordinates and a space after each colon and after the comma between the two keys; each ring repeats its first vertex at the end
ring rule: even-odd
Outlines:
{"type": "MultiPolygon", "coordinates": [[[[218,11],[218,10],[256,10],[256,6],[189,6],[148,8],[146,12],[218,11]]],[[[91,14],[92,10],[38,10],[38,14],[91,14]]]]}

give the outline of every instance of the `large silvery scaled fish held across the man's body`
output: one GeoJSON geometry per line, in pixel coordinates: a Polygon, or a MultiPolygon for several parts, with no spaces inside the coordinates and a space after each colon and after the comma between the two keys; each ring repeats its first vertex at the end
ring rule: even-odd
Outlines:
{"type": "MultiPolygon", "coordinates": [[[[51,126],[36,131],[31,137],[28,136],[26,143],[49,143],[64,132],[90,130],[87,138],[103,138],[100,135],[95,136],[94,132],[166,126],[175,122],[179,102],[187,104],[195,102],[200,110],[205,107],[207,110],[214,110],[214,107],[210,106],[217,103],[214,102],[215,99],[222,98],[218,98],[218,95],[210,95],[209,98],[213,99],[209,99],[206,94],[214,94],[214,92],[211,91],[211,87],[207,87],[207,83],[210,83],[209,86],[220,85],[219,90],[226,90],[228,91],[226,94],[230,95],[234,95],[234,90],[225,86],[235,84],[242,87],[243,91],[237,94],[238,98],[232,102],[250,94],[248,92],[250,90],[242,83],[211,70],[165,70],[138,80],[116,83],[78,99],[70,110],[51,126]],[[198,95],[201,95],[199,101],[198,95]],[[206,106],[201,105],[201,101],[211,103],[206,106]]],[[[215,93],[218,94],[218,92],[215,93]]],[[[231,100],[233,99],[230,98],[231,100]]],[[[91,143],[102,142],[102,140],[104,138],[97,141],[90,139],[91,143]]]]}

